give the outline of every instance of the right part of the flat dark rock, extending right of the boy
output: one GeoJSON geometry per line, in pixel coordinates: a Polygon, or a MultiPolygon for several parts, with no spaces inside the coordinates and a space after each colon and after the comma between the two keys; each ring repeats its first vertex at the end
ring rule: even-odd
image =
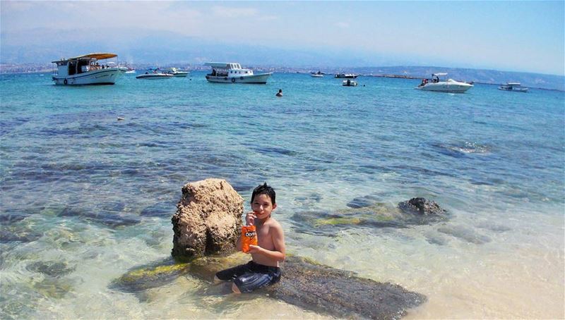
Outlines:
{"type": "Polygon", "coordinates": [[[400,285],[359,278],[353,272],[290,257],[283,278],[267,287],[271,297],[340,318],[400,319],[427,300],[400,285]]]}

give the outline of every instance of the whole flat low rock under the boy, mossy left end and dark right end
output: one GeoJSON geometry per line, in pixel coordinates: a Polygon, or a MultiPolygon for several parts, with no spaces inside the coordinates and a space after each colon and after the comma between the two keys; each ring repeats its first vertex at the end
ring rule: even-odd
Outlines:
{"type": "MultiPolygon", "coordinates": [[[[184,263],[165,259],[132,269],[116,279],[112,288],[141,295],[143,291],[166,285],[179,276],[194,276],[210,283],[217,271],[248,260],[249,256],[239,253],[229,257],[199,257],[184,263]]],[[[348,319],[400,319],[408,309],[427,300],[424,295],[405,290],[400,285],[360,278],[351,271],[323,266],[301,257],[287,257],[282,269],[281,281],[258,293],[268,293],[274,299],[321,314],[348,319]]],[[[224,293],[228,294],[230,290],[224,293]]]]}

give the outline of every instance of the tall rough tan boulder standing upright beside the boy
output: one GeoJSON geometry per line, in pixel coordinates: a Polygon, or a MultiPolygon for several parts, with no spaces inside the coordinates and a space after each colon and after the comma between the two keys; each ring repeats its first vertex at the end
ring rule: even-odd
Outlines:
{"type": "Polygon", "coordinates": [[[172,216],[172,255],[190,258],[233,252],[242,226],[243,198],[222,179],[206,179],[182,187],[172,216]]]}

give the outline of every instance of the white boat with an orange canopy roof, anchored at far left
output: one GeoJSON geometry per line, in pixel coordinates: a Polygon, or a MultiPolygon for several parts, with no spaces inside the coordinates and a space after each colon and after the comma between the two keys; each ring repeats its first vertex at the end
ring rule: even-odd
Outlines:
{"type": "Polygon", "coordinates": [[[127,68],[110,61],[117,54],[96,53],[52,61],[57,64],[57,73],[52,75],[55,85],[114,85],[127,68]],[[100,63],[102,62],[102,63],[100,63]]]}

